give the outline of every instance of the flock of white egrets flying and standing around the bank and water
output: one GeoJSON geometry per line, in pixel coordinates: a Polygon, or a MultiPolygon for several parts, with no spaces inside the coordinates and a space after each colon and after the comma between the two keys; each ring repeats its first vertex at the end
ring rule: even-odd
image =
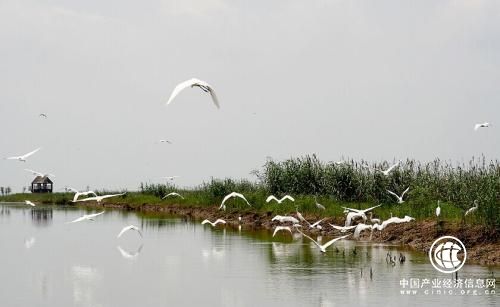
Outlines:
{"type": "MultiPolygon", "coordinates": [[[[211,96],[211,98],[212,98],[213,103],[215,104],[215,106],[217,108],[220,108],[219,100],[217,98],[217,95],[215,94],[215,90],[213,89],[213,87],[210,84],[208,84],[207,82],[199,80],[199,79],[196,79],[196,78],[192,78],[192,79],[189,79],[189,80],[186,80],[184,82],[179,83],[174,88],[174,90],[173,90],[172,94],[170,95],[170,98],[168,99],[168,101],[167,101],[166,104],[168,105],[168,104],[172,103],[172,101],[175,99],[175,97],[177,97],[183,90],[185,90],[187,88],[194,88],[194,87],[198,87],[201,90],[203,90],[204,92],[209,93],[210,96],[211,96]]],[[[40,117],[44,117],[45,119],[48,118],[47,114],[45,114],[45,113],[41,113],[40,117]]],[[[489,126],[490,126],[490,124],[487,123],[487,122],[478,123],[478,124],[474,125],[474,130],[477,131],[480,128],[487,128],[489,126]]],[[[172,144],[172,142],[170,140],[159,140],[159,143],[172,144]]],[[[26,162],[26,160],[30,156],[32,156],[35,153],[37,153],[40,149],[41,148],[37,148],[37,149],[35,149],[35,150],[33,150],[33,151],[29,152],[29,153],[26,153],[24,155],[7,157],[5,159],[26,162]]],[[[341,163],[343,163],[343,161],[337,162],[337,164],[341,164],[341,163]]],[[[394,165],[391,165],[386,170],[375,169],[375,171],[378,171],[378,172],[382,173],[383,175],[388,176],[393,169],[395,169],[396,167],[399,166],[399,163],[400,162],[397,162],[394,165]]],[[[364,167],[369,168],[369,166],[367,166],[367,165],[364,165],[364,167]]],[[[30,173],[32,173],[33,175],[36,175],[36,176],[55,177],[51,173],[43,173],[43,172],[38,172],[38,171],[31,170],[31,169],[25,169],[25,171],[30,172],[30,173]]],[[[177,177],[178,176],[169,176],[169,177],[163,177],[163,178],[167,179],[167,180],[174,180],[177,177]]],[[[389,190],[387,190],[387,192],[389,194],[393,195],[396,198],[398,204],[402,204],[402,203],[404,203],[403,197],[409,191],[409,189],[410,189],[409,187],[406,188],[406,190],[404,190],[401,193],[401,195],[398,195],[395,192],[392,192],[392,191],[389,191],[389,190]]],[[[110,194],[110,195],[101,195],[101,196],[98,196],[93,191],[80,192],[80,191],[78,191],[78,190],[76,190],[74,188],[66,188],[66,190],[75,193],[74,198],[73,198],[73,202],[96,201],[97,203],[100,203],[102,200],[104,200],[106,198],[122,196],[122,195],[125,194],[125,193],[121,193],[121,194],[110,194]],[[89,195],[92,195],[92,196],[89,197],[89,195]],[[87,196],[87,197],[83,198],[83,199],[80,199],[80,196],[87,196]]],[[[171,192],[171,193],[165,195],[163,197],[163,199],[168,198],[168,197],[180,197],[180,198],[184,199],[184,197],[181,196],[177,192],[171,192]]],[[[244,200],[248,206],[251,206],[251,204],[248,202],[248,200],[245,198],[245,196],[243,194],[237,193],[237,192],[232,192],[232,193],[230,193],[230,194],[228,194],[228,195],[226,195],[224,197],[224,199],[222,200],[222,203],[220,204],[219,209],[226,210],[226,202],[229,201],[232,198],[240,198],[240,199],[244,200]]],[[[293,197],[291,197],[290,195],[285,195],[285,196],[283,196],[282,198],[279,198],[279,199],[276,196],[274,196],[274,195],[270,195],[266,199],[266,202],[269,203],[271,201],[275,201],[276,203],[281,204],[284,201],[294,202],[295,199],[293,197]]],[[[33,202],[31,202],[29,200],[26,200],[25,203],[26,203],[26,205],[29,205],[29,206],[32,206],[32,207],[36,206],[36,204],[34,204],[33,202]]],[[[317,200],[316,200],[316,198],[315,198],[315,204],[316,204],[316,207],[318,209],[325,210],[325,207],[323,205],[321,205],[320,203],[318,203],[317,200]]],[[[272,218],[272,222],[277,222],[277,223],[280,223],[280,224],[289,224],[289,225],[278,225],[278,226],[276,226],[275,229],[274,229],[273,237],[278,232],[280,232],[280,231],[287,231],[290,234],[292,234],[293,231],[296,230],[297,232],[299,232],[300,234],[302,234],[306,238],[310,239],[320,249],[321,252],[326,252],[326,249],[329,246],[333,245],[335,242],[337,242],[339,240],[342,240],[342,239],[345,239],[345,238],[349,237],[350,235],[353,235],[353,237],[357,239],[357,238],[359,238],[361,232],[363,232],[365,230],[370,230],[372,232],[372,234],[373,234],[374,230],[382,231],[389,224],[405,223],[405,222],[410,222],[410,221],[415,220],[414,218],[412,218],[410,216],[405,216],[404,218],[399,218],[399,217],[392,217],[392,214],[391,214],[391,218],[389,218],[389,219],[381,222],[380,219],[373,218],[373,212],[371,212],[372,210],[374,210],[374,209],[376,209],[378,207],[380,207],[380,205],[374,206],[374,207],[371,207],[371,208],[368,208],[368,209],[363,209],[363,210],[344,207],[344,209],[345,209],[344,213],[346,215],[346,217],[345,217],[345,225],[344,226],[338,226],[338,225],[332,225],[332,224],[329,224],[329,225],[330,225],[330,227],[332,227],[332,229],[335,229],[335,230],[337,230],[337,231],[339,231],[341,233],[345,233],[345,232],[348,232],[348,231],[353,231],[353,233],[352,234],[348,234],[348,235],[342,235],[340,237],[334,238],[334,239],[328,241],[325,244],[321,244],[320,242],[312,239],[310,236],[304,234],[300,230],[300,228],[303,227],[302,224],[304,224],[305,226],[307,226],[309,229],[320,229],[321,230],[321,229],[323,229],[323,226],[321,225],[321,223],[324,222],[324,219],[316,221],[314,223],[310,223],[309,221],[307,221],[306,219],[304,219],[304,217],[298,211],[298,209],[297,209],[297,212],[296,212],[297,218],[295,218],[293,216],[280,216],[280,215],[277,215],[277,216],[275,216],[275,217],[272,218]],[[370,218],[369,219],[368,219],[368,217],[366,215],[367,213],[370,213],[370,218]],[[356,220],[362,220],[363,222],[358,223],[356,225],[353,225],[356,220]],[[367,221],[369,221],[369,223],[367,223],[367,221]]],[[[467,210],[467,212],[465,213],[465,215],[473,213],[474,211],[477,210],[477,208],[478,208],[478,203],[477,203],[477,201],[475,201],[474,202],[474,207],[472,207],[469,210],[467,210]]],[[[96,218],[97,216],[102,215],[103,213],[104,213],[104,211],[99,212],[99,213],[94,213],[94,214],[86,214],[86,215],[78,217],[78,218],[76,218],[73,221],[70,221],[68,223],[71,224],[71,223],[77,223],[77,222],[82,222],[82,221],[94,221],[94,218],[96,218]]],[[[437,208],[436,208],[436,216],[439,217],[440,214],[441,214],[441,207],[440,207],[440,204],[438,202],[438,205],[437,205],[437,208]]],[[[239,217],[239,222],[241,223],[241,217],[239,217]]],[[[226,224],[226,221],[224,221],[223,219],[217,219],[215,222],[211,222],[208,219],[206,219],[206,220],[204,220],[202,222],[202,225],[205,225],[205,224],[210,224],[210,225],[212,225],[212,227],[215,227],[218,224],[223,224],[223,225],[226,224]]],[[[118,233],[117,237],[120,238],[125,232],[127,232],[129,230],[136,231],[142,237],[141,230],[139,229],[139,227],[134,226],[134,225],[125,226],[118,233]]],[[[371,238],[371,236],[370,236],[370,238],[371,238]]]]}

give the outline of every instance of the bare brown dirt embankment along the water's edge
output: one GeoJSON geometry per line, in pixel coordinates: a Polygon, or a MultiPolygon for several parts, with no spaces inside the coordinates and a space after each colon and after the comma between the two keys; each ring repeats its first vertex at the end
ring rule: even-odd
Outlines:
{"type": "MultiPolygon", "coordinates": [[[[222,218],[226,220],[227,224],[230,226],[238,226],[240,224],[238,217],[241,216],[242,227],[256,230],[272,229],[279,225],[279,223],[271,221],[274,216],[272,212],[224,212],[218,210],[217,206],[187,207],[182,205],[143,204],[138,207],[132,207],[122,203],[104,203],[100,205],[100,207],[166,213],[196,220],[215,220],[217,218],[222,218]]],[[[290,212],[289,215],[295,216],[295,212],[290,212]]],[[[317,221],[320,219],[320,217],[316,215],[303,215],[304,218],[310,221],[317,221]]],[[[323,236],[340,235],[340,232],[329,227],[328,223],[343,225],[344,217],[325,219],[324,223],[322,223],[322,230],[307,228],[303,230],[310,234],[321,234],[323,236]]],[[[402,224],[390,224],[383,231],[374,231],[371,236],[371,241],[406,245],[415,250],[427,253],[434,240],[445,235],[457,237],[464,243],[467,248],[467,262],[482,265],[500,265],[499,231],[478,225],[450,223],[445,221],[438,222],[433,219],[402,224]]],[[[369,240],[370,232],[365,231],[362,233],[360,239],[369,240]]]]}

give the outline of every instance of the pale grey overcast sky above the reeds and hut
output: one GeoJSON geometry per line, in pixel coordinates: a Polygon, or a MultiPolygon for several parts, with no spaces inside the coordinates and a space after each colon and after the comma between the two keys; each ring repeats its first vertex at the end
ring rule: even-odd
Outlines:
{"type": "Polygon", "coordinates": [[[42,147],[0,160],[14,191],[24,168],[135,190],[268,157],[500,154],[499,1],[0,0],[0,42],[0,157],[42,147]],[[197,88],[165,105],[193,77],[220,109],[197,88]]]}

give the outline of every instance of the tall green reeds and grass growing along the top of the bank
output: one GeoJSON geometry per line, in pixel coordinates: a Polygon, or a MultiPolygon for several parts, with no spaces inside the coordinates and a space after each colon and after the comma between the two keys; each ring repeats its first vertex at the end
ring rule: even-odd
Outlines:
{"type": "MultiPolygon", "coordinates": [[[[325,217],[342,217],[342,206],[367,208],[382,204],[375,210],[377,217],[386,219],[410,215],[417,219],[435,218],[437,201],[441,200],[441,220],[481,224],[500,228],[500,164],[486,162],[484,158],[472,159],[466,165],[452,166],[435,160],[421,164],[413,160],[403,161],[388,176],[374,169],[386,169],[389,163],[364,167],[364,161],[346,161],[342,164],[324,163],[316,156],[289,159],[283,162],[267,161],[261,171],[256,171],[259,183],[247,180],[212,179],[208,183],[192,188],[179,189],[173,185],[141,184],[138,192],[105,200],[105,202],[127,203],[131,207],[142,204],[179,204],[186,206],[218,206],[225,195],[236,191],[243,193],[252,207],[240,199],[231,199],[228,210],[269,212],[285,214],[295,211],[325,217]],[[410,187],[405,203],[397,204],[387,193],[398,194],[410,187]],[[170,192],[180,193],[184,199],[161,198],[170,192]],[[294,203],[265,203],[268,195],[281,197],[292,195],[294,203]],[[316,208],[314,196],[327,209],[316,208]],[[467,209],[478,200],[479,209],[464,217],[467,209]]],[[[100,194],[103,194],[102,191],[100,194]]],[[[106,191],[105,193],[117,193],[106,191]]],[[[24,201],[68,204],[72,193],[11,194],[0,197],[2,201],[24,201]]]]}

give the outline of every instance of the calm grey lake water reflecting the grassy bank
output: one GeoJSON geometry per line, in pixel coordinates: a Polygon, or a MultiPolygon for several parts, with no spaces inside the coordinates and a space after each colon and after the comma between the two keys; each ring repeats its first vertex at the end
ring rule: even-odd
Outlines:
{"type": "Polygon", "coordinates": [[[273,239],[118,210],[65,224],[90,212],[0,204],[0,306],[498,306],[499,294],[476,284],[499,279],[498,267],[465,265],[458,277],[474,281],[462,288],[468,294],[455,281],[451,289],[424,284],[401,294],[402,279],[446,284],[452,276],[424,254],[367,242],[339,241],[322,254],[285,233],[273,239]],[[144,237],[130,231],[117,239],[129,224],[144,237]],[[387,264],[388,251],[406,262],[387,264]],[[453,294],[437,294],[445,289],[453,294]]]}

